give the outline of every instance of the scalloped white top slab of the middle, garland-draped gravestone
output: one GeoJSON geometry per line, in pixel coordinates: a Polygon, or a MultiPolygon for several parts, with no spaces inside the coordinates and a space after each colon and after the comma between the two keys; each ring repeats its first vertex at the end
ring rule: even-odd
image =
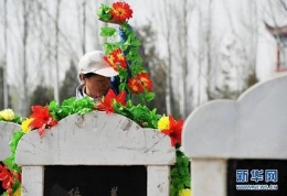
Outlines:
{"type": "Polygon", "coordinates": [[[119,115],[73,115],[46,130],[25,134],[18,144],[20,165],[166,165],[174,163],[169,137],[141,129],[119,115]]]}

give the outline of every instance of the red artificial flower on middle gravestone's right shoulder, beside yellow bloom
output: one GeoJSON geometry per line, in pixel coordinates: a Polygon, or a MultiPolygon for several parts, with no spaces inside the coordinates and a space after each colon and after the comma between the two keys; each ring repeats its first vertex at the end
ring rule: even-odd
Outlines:
{"type": "Polygon", "coordinates": [[[176,121],[172,116],[169,116],[169,129],[161,132],[168,134],[171,139],[171,145],[181,145],[181,132],[183,127],[183,119],[176,121]]]}

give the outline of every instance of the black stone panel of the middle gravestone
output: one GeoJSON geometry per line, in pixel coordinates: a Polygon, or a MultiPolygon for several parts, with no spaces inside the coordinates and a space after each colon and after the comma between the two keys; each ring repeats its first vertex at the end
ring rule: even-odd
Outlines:
{"type": "Polygon", "coordinates": [[[147,196],[146,166],[45,166],[44,196],[147,196]]]}

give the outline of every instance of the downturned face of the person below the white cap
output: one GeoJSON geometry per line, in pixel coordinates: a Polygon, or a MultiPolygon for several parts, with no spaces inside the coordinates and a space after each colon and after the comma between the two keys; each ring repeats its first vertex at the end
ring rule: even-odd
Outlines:
{"type": "Polygon", "coordinates": [[[86,86],[86,95],[93,98],[98,98],[105,96],[110,87],[110,78],[100,76],[100,75],[92,75],[86,77],[82,75],[82,81],[86,86]]]}

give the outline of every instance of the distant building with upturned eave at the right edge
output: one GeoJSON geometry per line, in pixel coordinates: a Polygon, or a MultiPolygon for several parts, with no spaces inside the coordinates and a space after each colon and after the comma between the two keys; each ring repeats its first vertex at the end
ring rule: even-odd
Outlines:
{"type": "Polygon", "coordinates": [[[277,44],[274,70],[276,73],[287,72],[287,25],[270,26],[265,23],[265,28],[274,36],[277,44]]]}

